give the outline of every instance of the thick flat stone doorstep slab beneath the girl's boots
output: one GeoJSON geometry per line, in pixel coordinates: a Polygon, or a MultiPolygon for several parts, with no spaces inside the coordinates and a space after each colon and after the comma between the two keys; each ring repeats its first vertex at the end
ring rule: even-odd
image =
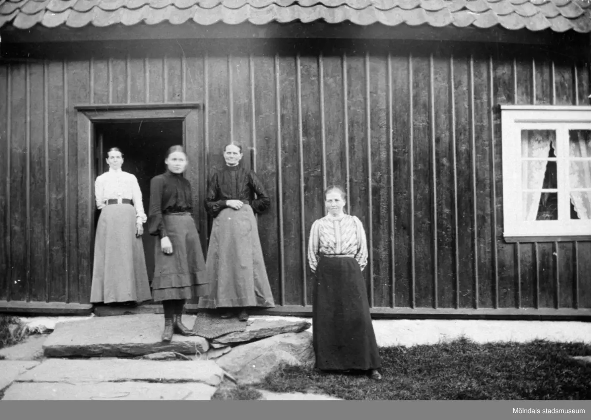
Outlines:
{"type": "MultiPolygon", "coordinates": [[[[194,316],[183,316],[185,325],[193,325],[194,320],[194,316]]],[[[164,318],[158,314],[93,317],[57,323],[43,349],[46,357],[133,357],[159,351],[195,354],[209,350],[203,337],[174,334],[170,343],[164,343],[163,330],[164,318]]]]}

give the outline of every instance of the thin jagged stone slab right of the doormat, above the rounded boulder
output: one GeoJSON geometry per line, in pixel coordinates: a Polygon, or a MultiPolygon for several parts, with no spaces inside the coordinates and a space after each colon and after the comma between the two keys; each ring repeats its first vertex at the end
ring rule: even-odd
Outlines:
{"type": "Polygon", "coordinates": [[[252,323],[246,327],[246,331],[241,333],[230,333],[222,337],[217,337],[212,340],[213,343],[220,344],[236,344],[245,343],[247,341],[260,340],[277,336],[284,333],[300,333],[311,327],[311,323],[307,321],[288,321],[288,320],[262,320],[254,319],[252,323]]]}

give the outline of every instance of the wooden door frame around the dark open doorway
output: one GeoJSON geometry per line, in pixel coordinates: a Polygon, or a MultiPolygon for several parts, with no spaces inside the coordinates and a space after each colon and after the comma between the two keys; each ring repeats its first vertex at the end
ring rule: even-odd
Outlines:
{"type": "Polygon", "coordinates": [[[206,150],[203,133],[203,105],[184,103],[137,103],[118,105],[76,105],[77,158],[78,158],[78,264],[80,275],[80,301],[90,303],[92,285],[92,259],[94,249],[94,212],[96,210],[95,181],[95,129],[98,122],[115,121],[181,121],[183,147],[189,157],[196,157],[196,165],[187,169],[193,189],[193,206],[198,210],[196,220],[200,227],[202,246],[207,240],[207,215],[202,197],[206,188],[206,150]]]}

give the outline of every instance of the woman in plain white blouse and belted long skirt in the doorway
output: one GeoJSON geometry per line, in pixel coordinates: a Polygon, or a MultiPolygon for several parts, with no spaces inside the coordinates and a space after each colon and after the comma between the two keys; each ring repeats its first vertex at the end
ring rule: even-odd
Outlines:
{"type": "Polygon", "coordinates": [[[137,178],[121,170],[121,150],[113,147],[107,155],[109,171],[95,181],[100,217],[90,302],[138,304],[151,299],[141,239],[147,216],[137,178]]]}

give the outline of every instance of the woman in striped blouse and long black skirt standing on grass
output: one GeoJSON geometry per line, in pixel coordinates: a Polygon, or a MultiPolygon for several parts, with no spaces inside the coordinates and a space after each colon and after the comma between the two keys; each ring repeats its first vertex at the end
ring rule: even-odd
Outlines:
{"type": "Polygon", "coordinates": [[[312,224],[308,245],[316,274],[313,344],[320,370],[369,370],[382,379],[369,300],[361,274],[368,249],[361,220],[343,212],[346,193],[333,185],[324,191],[327,215],[312,224]]]}

